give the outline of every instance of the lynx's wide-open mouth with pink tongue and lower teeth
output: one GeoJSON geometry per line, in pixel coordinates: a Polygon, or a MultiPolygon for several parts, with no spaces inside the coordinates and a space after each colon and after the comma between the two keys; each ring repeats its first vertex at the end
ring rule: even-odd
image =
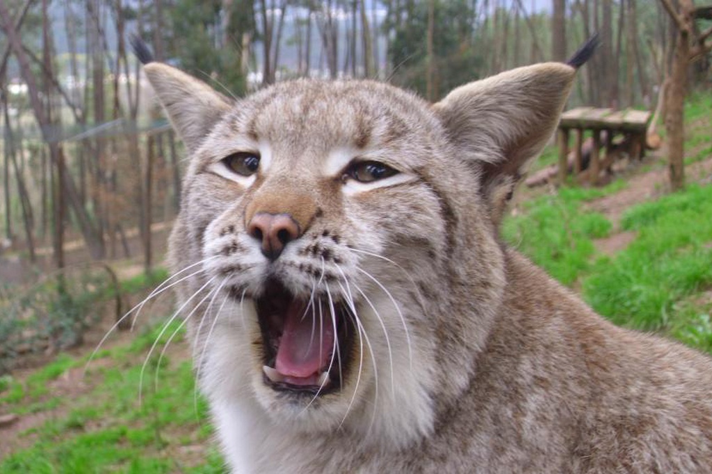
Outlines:
{"type": "Polygon", "coordinates": [[[354,333],[345,304],[325,297],[298,298],[271,280],[256,306],[268,386],[310,396],[341,386],[354,333]]]}

